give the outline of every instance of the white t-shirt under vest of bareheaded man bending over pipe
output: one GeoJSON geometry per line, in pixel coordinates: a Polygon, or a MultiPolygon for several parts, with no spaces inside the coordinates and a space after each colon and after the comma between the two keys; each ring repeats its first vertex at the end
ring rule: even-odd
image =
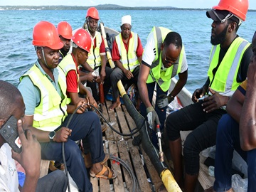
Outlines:
{"type": "MultiPolygon", "coordinates": [[[[155,41],[154,41],[154,33],[153,33],[153,31],[151,31],[146,40],[146,46],[144,48],[142,60],[144,63],[146,63],[147,66],[151,67],[155,56],[156,56],[156,47],[155,47],[155,41]]],[[[163,64],[161,66],[161,70],[166,70],[166,68],[164,68],[163,64]]],[[[185,72],[186,70],[188,70],[188,63],[186,60],[186,53],[185,53],[185,49],[184,49],[183,62],[181,64],[181,73],[185,72]]]]}

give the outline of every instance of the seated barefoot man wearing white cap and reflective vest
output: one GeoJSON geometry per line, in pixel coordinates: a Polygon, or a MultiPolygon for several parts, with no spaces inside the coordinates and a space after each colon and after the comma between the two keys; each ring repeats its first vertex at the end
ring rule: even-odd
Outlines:
{"type": "MultiPolygon", "coordinates": [[[[121,33],[114,38],[112,60],[117,68],[110,75],[115,102],[110,110],[121,105],[117,82],[119,80],[137,84],[139,65],[142,62],[143,47],[137,33],[133,33],[131,16],[122,17],[121,33]]],[[[138,95],[138,94],[137,94],[138,95]]]]}

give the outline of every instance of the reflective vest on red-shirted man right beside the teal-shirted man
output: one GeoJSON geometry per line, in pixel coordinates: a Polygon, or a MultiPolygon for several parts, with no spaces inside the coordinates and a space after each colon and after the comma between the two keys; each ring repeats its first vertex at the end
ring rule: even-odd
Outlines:
{"type": "MultiPolygon", "coordinates": [[[[79,74],[78,74],[72,55],[71,54],[66,55],[65,58],[63,58],[63,60],[60,61],[59,67],[63,70],[63,72],[65,73],[65,76],[67,76],[70,70],[75,70],[75,73],[77,75],[78,92],[79,92],[79,81],[80,81],[79,74]]],[[[68,104],[70,104],[70,102],[71,102],[71,99],[68,98],[68,104]]]]}

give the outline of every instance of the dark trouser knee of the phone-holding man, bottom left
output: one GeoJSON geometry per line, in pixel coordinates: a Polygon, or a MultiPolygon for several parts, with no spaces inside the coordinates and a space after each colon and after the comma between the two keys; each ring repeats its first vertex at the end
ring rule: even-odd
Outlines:
{"type": "Polygon", "coordinates": [[[36,192],[65,192],[67,190],[67,178],[63,171],[56,170],[39,178],[36,192]]]}

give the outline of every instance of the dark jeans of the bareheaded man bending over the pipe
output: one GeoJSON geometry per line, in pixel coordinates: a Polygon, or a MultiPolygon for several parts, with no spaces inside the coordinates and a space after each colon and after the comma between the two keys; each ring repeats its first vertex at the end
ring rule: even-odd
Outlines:
{"type": "MultiPolygon", "coordinates": [[[[149,94],[149,101],[152,103],[152,98],[153,98],[153,94],[154,94],[154,87],[156,85],[156,102],[159,100],[159,95],[161,94],[167,94],[167,91],[164,92],[163,90],[161,90],[161,87],[156,83],[156,82],[151,82],[151,83],[146,83],[146,87],[148,90],[148,94],[149,94]]],[[[166,119],[166,108],[164,107],[162,109],[160,109],[159,107],[157,107],[157,105],[155,106],[155,111],[156,114],[159,117],[159,121],[161,123],[160,125],[160,130],[161,132],[163,132],[164,130],[164,122],[166,119]]],[[[140,111],[141,114],[144,118],[146,118],[146,106],[144,105],[144,103],[142,102],[142,104],[140,105],[140,111]]],[[[156,146],[156,148],[158,148],[158,141],[157,141],[157,137],[156,137],[156,132],[152,131],[152,139],[151,139],[152,144],[154,144],[154,146],[156,146]]]]}

